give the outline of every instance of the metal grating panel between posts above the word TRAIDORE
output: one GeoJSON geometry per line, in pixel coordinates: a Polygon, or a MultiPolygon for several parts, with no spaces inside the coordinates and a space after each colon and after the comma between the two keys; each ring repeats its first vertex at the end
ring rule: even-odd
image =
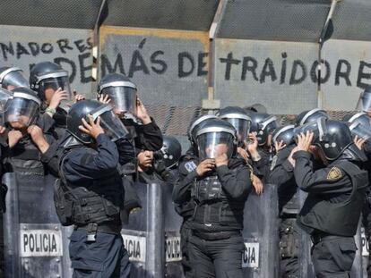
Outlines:
{"type": "Polygon", "coordinates": [[[316,42],[329,0],[234,0],[227,4],[218,38],[316,42]]]}

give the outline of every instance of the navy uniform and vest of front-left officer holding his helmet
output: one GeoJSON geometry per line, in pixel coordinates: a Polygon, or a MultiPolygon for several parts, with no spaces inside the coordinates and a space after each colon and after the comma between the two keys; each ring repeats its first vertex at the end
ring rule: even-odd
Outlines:
{"type": "Polygon", "coordinates": [[[108,136],[100,134],[97,149],[70,149],[60,165],[68,190],[73,192],[75,225],[70,257],[73,277],[128,277],[130,263],[120,234],[124,202],[117,171],[118,152],[108,136]]]}

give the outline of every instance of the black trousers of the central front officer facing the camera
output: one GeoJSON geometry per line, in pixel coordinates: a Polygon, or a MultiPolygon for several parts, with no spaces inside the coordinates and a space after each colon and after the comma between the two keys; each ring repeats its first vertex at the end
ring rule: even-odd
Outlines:
{"type": "Polygon", "coordinates": [[[203,240],[194,234],[189,238],[189,258],[197,278],[242,278],[241,235],[225,240],[203,240]]]}

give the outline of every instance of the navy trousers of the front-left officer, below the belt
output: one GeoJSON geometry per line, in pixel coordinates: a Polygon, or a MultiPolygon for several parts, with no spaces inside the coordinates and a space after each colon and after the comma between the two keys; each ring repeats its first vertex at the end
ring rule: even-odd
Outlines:
{"type": "Polygon", "coordinates": [[[98,232],[87,241],[87,232],[73,231],[70,238],[73,278],[126,278],[131,265],[121,235],[98,232]]]}

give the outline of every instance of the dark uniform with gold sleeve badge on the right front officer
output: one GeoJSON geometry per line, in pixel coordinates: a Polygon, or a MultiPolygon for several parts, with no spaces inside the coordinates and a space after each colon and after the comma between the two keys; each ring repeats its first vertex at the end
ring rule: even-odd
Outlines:
{"type": "Polygon", "coordinates": [[[313,172],[309,153],[298,151],[293,158],[298,187],[308,192],[298,225],[312,236],[315,274],[320,278],[349,277],[367,172],[341,157],[313,172]]]}

